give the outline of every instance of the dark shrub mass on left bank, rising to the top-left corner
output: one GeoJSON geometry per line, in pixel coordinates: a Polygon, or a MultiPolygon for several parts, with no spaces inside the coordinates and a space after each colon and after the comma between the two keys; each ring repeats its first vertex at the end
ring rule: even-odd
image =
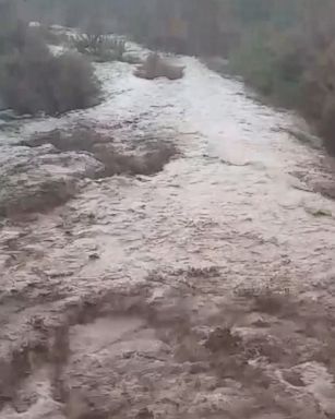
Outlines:
{"type": "Polygon", "coordinates": [[[92,64],[79,53],[55,56],[40,28],[29,27],[10,7],[0,5],[0,98],[4,106],[17,113],[57,115],[95,105],[99,83],[92,64]]]}

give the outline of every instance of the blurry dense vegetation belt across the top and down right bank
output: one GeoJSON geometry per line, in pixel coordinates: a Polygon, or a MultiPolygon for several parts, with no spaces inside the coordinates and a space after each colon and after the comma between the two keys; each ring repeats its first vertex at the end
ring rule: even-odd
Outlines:
{"type": "Polygon", "coordinates": [[[83,28],[98,22],[105,33],[128,33],[157,48],[228,58],[230,71],[260,93],[299,109],[335,153],[334,0],[22,0],[22,4],[32,20],[83,28]]]}

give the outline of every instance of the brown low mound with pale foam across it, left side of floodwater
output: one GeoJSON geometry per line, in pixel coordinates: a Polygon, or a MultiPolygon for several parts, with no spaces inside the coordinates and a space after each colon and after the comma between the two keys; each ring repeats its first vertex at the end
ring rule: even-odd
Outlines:
{"type": "Polygon", "coordinates": [[[26,152],[22,161],[5,164],[0,171],[3,217],[63,204],[76,194],[85,178],[155,175],[178,153],[174,143],[164,140],[141,142],[141,148],[127,151],[112,136],[87,128],[34,135],[21,142],[21,148],[26,152]]]}

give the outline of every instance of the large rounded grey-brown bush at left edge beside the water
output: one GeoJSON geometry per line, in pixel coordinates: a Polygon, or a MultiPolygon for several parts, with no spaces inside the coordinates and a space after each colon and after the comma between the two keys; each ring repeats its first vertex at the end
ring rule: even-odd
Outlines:
{"type": "Polygon", "coordinates": [[[77,53],[52,56],[43,43],[27,41],[2,65],[0,95],[19,113],[57,115],[97,103],[99,83],[92,64],[77,53]]]}

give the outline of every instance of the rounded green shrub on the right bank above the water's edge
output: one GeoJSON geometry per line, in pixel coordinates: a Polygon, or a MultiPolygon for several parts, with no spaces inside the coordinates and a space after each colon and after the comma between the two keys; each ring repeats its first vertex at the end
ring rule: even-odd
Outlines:
{"type": "Polygon", "coordinates": [[[271,96],[279,105],[298,107],[302,100],[302,82],[307,51],[295,33],[285,35],[261,28],[246,36],[230,55],[230,71],[271,96]]]}

